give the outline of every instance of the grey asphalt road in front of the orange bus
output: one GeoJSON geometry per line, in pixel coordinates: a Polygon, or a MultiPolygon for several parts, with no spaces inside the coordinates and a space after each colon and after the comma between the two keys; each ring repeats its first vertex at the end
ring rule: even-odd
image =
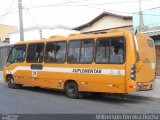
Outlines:
{"type": "Polygon", "coordinates": [[[12,114],[97,114],[160,113],[156,102],[87,96],[69,99],[62,91],[24,87],[10,89],[0,84],[0,113],[12,114]]]}

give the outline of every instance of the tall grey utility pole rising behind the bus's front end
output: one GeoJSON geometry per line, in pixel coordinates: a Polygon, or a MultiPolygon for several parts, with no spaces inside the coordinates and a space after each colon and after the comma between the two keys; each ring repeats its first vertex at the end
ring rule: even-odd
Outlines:
{"type": "Polygon", "coordinates": [[[20,41],[24,41],[22,1],[18,0],[20,41]]]}

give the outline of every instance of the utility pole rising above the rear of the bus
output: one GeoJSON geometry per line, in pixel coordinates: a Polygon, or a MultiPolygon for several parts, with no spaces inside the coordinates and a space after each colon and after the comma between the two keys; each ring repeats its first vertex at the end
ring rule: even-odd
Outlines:
{"type": "Polygon", "coordinates": [[[142,8],[141,8],[141,0],[139,0],[139,31],[143,31],[144,30],[144,22],[143,22],[143,12],[142,12],[142,8]]]}

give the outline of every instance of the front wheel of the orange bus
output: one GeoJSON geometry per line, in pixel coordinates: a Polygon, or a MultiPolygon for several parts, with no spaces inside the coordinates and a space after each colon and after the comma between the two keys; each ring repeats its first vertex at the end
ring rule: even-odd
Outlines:
{"type": "Polygon", "coordinates": [[[9,88],[12,88],[12,89],[17,89],[22,87],[22,85],[14,83],[14,79],[11,75],[7,77],[7,85],[9,88]]]}

